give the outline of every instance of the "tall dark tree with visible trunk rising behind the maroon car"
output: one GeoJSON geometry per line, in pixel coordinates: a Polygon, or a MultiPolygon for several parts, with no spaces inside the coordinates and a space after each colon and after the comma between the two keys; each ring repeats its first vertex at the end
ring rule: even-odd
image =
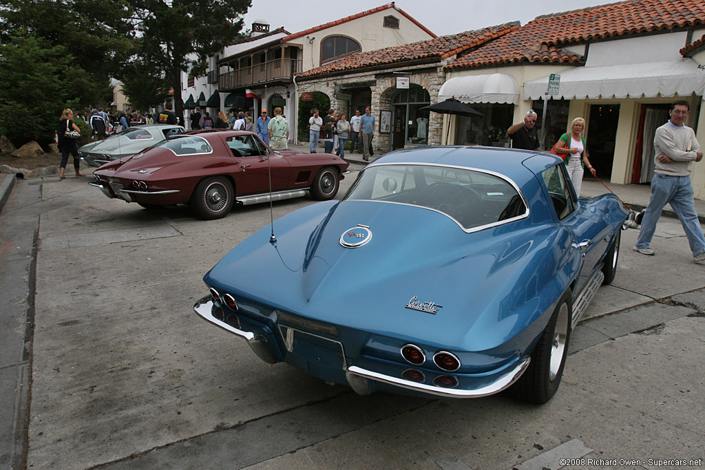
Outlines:
{"type": "Polygon", "coordinates": [[[183,116],[181,72],[204,73],[208,56],[240,38],[250,0],[134,0],[139,60],[153,64],[174,90],[183,116]]]}

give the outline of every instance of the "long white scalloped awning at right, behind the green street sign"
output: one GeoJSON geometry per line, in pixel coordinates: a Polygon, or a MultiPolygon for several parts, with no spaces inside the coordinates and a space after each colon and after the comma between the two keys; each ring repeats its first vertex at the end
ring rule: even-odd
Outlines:
{"type": "MultiPolygon", "coordinates": [[[[524,84],[524,99],[543,99],[548,76],[524,84]]],[[[559,94],[553,99],[687,97],[703,94],[705,70],[690,58],[671,62],[626,63],[576,67],[560,72],[559,94]]]]}

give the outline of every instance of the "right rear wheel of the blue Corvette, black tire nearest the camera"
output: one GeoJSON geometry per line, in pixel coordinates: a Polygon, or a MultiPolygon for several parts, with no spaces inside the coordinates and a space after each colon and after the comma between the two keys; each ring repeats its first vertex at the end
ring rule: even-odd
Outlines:
{"type": "Polygon", "coordinates": [[[525,373],[512,385],[514,395],[527,402],[543,404],[556,394],[568,356],[571,319],[570,290],[560,298],[551,320],[531,354],[525,373]]]}

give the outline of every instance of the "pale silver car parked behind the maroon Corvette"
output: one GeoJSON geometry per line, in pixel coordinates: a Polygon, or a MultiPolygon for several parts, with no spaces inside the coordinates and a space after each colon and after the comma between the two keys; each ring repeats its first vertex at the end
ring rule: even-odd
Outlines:
{"type": "Polygon", "coordinates": [[[137,154],[184,130],[180,125],[137,125],[109,135],[104,140],[85,144],[78,149],[78,153],[90,166],[101,166],[109,161],[137,154]]]}

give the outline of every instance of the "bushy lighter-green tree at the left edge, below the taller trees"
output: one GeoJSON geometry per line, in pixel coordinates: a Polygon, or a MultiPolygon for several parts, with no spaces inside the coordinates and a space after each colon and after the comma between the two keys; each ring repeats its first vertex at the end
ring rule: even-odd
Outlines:
{"type": "Polygon", "coordinates": [[[61,111],[75,106],[66,81],[72,57],[35,35],[10,37],[0,45],[0,128],[16,145],[54,142],[61,111]]]}

